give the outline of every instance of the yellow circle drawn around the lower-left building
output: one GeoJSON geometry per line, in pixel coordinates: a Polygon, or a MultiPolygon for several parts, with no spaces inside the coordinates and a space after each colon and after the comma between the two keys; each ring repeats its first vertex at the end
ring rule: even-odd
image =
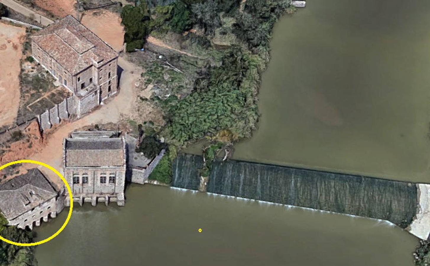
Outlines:
{"type": "Polygon", "coordinates": [[[63,229],[67,226],[70,217],[72,216],[72,210],[73,210],[73,195],[72,195],[72,190],[70,189],[69,184],[67,183],[67,181],[64,179],[63,175],[60,174],[60,172],[58,172],[57,170],[55,170],[55,168],[53,168],[51,165],[47,165],[46,163],[43,162],[39,162],[39,161],[35,161],[35,160],[18,160],[18,161],[14,161],[14,162],[8,162],[5,165],[0,166],[0,171],[10,165],[16,165],[18,163],[24,163],[24,162],[28,162],[28,163],[34,163],[37,165],[42,165],[45,166],[46,168],[48,168],[49,170],[53,171],[55,174],[57,174],[61,180],[63,181],[64,185],[67,188],[67,191],[69,193],[69,198],[70,198],[70,208],[69,208],[69,213],[67,215],[66,220],[64,221],[63,225],[61,226],[60,229],[58,229],[57,232],[55,232],[53,235],[51,235],[48,238],[45,238],[43,240],[37,241],[37,242],[33,242],[33,243],[19,243],[19,242],[13,242],[10,241],[9,239],[4,238],[3,236],[0,235],[0,239],[3,240],[6,243],[12,244],[12,245],[17,245],[17,246],[22,246],[22,247],[30,247],[30,246],[37,246],[43,243],[48,242],[49,240],[52,240],[53,238],[55,238],[59,233],[61,233],[61,231],[63,231],[63,229]]]}

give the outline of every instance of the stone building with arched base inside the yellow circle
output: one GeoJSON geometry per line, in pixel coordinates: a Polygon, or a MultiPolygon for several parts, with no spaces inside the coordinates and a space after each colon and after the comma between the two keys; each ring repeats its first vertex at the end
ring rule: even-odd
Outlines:
{"type": "Polygon", "coordinates": [[[0,210],[9,225],[33,229],[63,208],[64,189],[57,191],[37,168],[0,184],[0,210]]]}

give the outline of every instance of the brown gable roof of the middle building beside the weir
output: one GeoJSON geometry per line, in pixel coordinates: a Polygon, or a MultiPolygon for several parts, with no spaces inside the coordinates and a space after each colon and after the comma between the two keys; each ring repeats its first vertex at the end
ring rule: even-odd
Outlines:
{"type": "Polygon", "coordinates": [[[123,138],[66,138],[64,141],[67,166],[123,166],[123,138]]]}

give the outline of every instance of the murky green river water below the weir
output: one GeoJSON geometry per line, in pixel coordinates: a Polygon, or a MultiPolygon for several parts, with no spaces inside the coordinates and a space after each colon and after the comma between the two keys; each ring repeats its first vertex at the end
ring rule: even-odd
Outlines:
{"type": "MultiPolygon", "coordinates": [[[[39,265],[414,265],[416,238],[381,220],[151,185],[126,195],[123,208],[76,206],[37,247],[39,265]]],[[[37,240],[66,215],[37,228],[37,240]]]]}

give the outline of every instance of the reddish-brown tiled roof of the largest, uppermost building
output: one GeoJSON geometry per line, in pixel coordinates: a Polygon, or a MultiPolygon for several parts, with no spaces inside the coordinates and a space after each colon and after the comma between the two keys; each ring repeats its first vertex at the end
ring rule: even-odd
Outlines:
{"type": "Polygon", "coordinates": [[[118,56],[111,46],[68,15],[33,34],[31,39],[72,74],[118,56]]]}

